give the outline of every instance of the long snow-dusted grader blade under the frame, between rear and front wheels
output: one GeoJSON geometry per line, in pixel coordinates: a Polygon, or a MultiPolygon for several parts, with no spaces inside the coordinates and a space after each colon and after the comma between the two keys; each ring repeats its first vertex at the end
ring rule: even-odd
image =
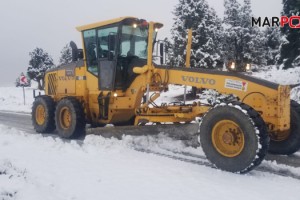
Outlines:
{"type": "Polygon", "coordinates": [[[197,141],[199,124],[168,124],[168,125],[148,125],[148,126],[115,126],[90,128],[87,134],[101,135],[105,138],[116,137],[122,139],[123,135],[143,136],[166,134],[178,140],[197,141]]]}

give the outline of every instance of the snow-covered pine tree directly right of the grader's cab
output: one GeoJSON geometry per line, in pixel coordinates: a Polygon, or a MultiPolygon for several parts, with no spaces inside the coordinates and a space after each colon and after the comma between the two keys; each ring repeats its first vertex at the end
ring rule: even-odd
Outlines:
{"type": "MultiPolygon", "coordinates": [[[[174,24],[171,30],[173,58],[176,66],[185,65],[187,28],[193,29],[191,67],[214,68],[221,61],[221,20],[209,7],[206,0],[179,0],[174,10],[174,24]]],[[[222,64],[221,64],[222,65],[222,64]]]]}

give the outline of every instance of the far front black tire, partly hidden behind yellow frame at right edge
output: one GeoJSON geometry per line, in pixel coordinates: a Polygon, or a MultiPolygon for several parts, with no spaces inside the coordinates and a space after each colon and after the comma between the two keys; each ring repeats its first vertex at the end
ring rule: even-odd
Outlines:
{"type": "Polygon", "coordinates": [[[300,149],[300,104],[291,101],[291,132],[284,141],[270,141],[269,153],[291,155],[300,149]]]}

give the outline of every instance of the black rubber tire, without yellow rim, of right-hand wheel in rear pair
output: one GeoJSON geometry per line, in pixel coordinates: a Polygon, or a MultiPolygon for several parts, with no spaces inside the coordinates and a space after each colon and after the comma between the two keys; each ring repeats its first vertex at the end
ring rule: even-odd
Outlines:
{"type": "Polygon", "coordinates": [[[72,97],[60,100],[56,106],[55,122],[58,135],[66,139],[77,139],[85,135],[85,114],[81,103],[72,97]],[[60,111],[67,107],[71,113],[71,125],[64,129],[60,122],[60,111]]]}

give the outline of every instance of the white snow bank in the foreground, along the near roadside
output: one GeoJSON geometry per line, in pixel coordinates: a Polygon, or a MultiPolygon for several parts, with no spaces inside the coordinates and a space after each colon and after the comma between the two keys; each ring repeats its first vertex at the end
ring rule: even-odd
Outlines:
{"type": "Polygon", "coordinates": [[[299,199],[297,179],[259,171],[237,175],[134,150],[197,153],[163,135],[63,141],[0,125],[0,138],[3,200],[299,199]]]}

